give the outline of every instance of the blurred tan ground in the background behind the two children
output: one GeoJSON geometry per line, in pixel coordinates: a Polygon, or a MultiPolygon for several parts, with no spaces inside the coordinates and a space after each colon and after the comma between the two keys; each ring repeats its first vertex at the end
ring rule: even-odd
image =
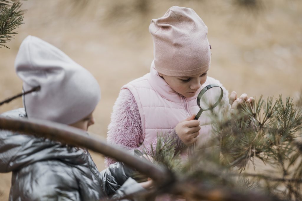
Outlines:
{"type": "MultiPolygon", "coordinates": [[[[112,106],[124,84],[149,72],[151,19],[173,5],[193,8],[208,27],[212,47],[208,72],[229,90],[259,98],[294,99],[302,88],[302,1],[300,0],[27,0],[24,24],[0,48],[0,99],[22,89],[14,59],[22,40],[34,35],[55,45],[88,69],[102,99],[90,132],[106,138],[112,106]]],[[[0,113],[22,107],[17,99],[0,113]]],[[[92,153],[99,170],[104,158],[92,153]]],[[[0,174],[0,200],[8,200],[11,173],[0,174]]]]}

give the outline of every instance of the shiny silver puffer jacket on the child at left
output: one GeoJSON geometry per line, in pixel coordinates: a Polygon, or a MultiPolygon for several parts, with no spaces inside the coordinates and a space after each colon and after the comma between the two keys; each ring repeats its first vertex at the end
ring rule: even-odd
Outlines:
{"type": "MultiPolygon", "coordinates": [[[[2,115],[24,118],[25,112],[17,109],[2,115]]],[[[133,179],[128,179],[131,170],[122,163],[99,172],[84,149],[0,130],[0,172],[10,171],[10,201],[88,201],[143,190],[133,179]]]]}

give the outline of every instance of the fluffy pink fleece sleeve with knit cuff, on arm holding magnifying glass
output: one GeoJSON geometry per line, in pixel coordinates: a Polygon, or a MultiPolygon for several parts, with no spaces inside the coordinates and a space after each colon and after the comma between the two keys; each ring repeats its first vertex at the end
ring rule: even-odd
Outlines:
{"type": "MultiPolygon", "coordinates": [[[[186,148],[175,129],[165,136],[164,142],[170,140],[175,145],[176,150],[186,148]]],[[[142,146],[144,136],[140,113],[134,96],[128,89],[122,89],[114,103],[111,122],[108,126],[107,141],[128,151],[138,149],[142,153],[147,152],[147,154],[151,153],[151,146],[156,147],[157,138],[154,138],[148,145],[142,146]]],[[[107,166],[115,162],[116,160],[112,158],[105,158],[107,166]]]]}

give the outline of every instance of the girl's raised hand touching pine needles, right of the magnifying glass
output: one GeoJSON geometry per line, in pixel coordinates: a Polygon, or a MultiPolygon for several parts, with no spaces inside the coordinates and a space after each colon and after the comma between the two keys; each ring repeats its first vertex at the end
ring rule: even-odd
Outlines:
{"type": "Polygon", "coordinates": [[[249,97],[246,95],[246,93],[242,94],[240,98],[237,98],[237,93],[232,92],[230,95],[230,104],[231,104],[231,115],[237,115],[239,113],[239,109],[241,107],[241,104],[246,101],[247,103],[250,103],[253,107],[253,104],[255,102],[255,99],[253,97],[249,97]]]}

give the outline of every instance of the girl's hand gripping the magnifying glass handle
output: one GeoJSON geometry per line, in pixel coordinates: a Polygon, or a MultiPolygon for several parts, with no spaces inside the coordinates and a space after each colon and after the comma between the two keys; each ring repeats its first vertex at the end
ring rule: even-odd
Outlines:
{"type": "Polygon", "coordinates": [[[175,131],[182,142],[188,147],[194,144],[199,137],[200,122],[195,120],[195,115],[179,122],[175,131]]]}

